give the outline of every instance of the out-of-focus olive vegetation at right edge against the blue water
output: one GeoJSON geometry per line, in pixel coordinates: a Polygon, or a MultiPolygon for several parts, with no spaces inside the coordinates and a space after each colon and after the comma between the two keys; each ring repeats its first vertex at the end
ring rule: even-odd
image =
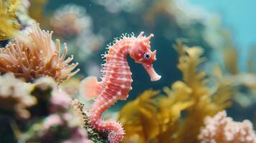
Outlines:
{"type": "MultiPolygon", "coordinates": [[[[226,78],[229,78],[235,83],[237,94],[234,97],[234,102],[243,109],[252,109],[255,105],[256,93],[256,63],[255,63],[256,47],[251,46],[248,51],[247,61],[242,62],[245,66],[244,71],[239,68],[239,53],[237,48],[230,41],[227,47],[223,50],[223,61],[226,78]]],[[[248,112],[248,114],[250,114],[248,112]]]]}

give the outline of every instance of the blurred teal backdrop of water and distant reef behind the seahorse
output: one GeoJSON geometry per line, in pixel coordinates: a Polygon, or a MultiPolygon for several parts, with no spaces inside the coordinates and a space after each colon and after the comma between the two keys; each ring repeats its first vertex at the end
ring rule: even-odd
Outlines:
{"type": "MultiPolygon", "coordinates": [[[[143,67],[128,58],[133,72],[129,101],[145,89],[161,89],[181,79],[172,47],[177,39],[204,48],[208,61],[202,69],[218,62],[227,75],[255,74],[255,4],[252,0],[39,0],[30,1],[29,15],[43,29],[53,30],[54,38],[67,42],[68,54],[80,63],[80,79],[100,77],[100,55],[114,37],[140,31],[154,34],[151,46],[157,49],[158,58],[154,66],[162,79],[150,82],[143,67]]],[[[252,114],[248,116],[252,119],[252,114]]]]}

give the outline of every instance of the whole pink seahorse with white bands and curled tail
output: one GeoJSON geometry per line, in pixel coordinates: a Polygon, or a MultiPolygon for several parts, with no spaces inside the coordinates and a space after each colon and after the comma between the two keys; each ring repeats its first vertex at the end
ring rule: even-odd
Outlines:
{"type": "Polygon", "coordinates": [[[98,95],[90,109],[89,120],[98,131],[108,132],[110,143],[121,142],[125,132],[119,122],[105,121],[101,119],[101,115],[119,99],[125,100],[132,89],[132,73],[126,56],[130,55],[136,63],[142,64],[151,81],[161,79],[152,65],[153,61],[156,61],[156,50],[151,51],[151,37],[153,34],[146,37],[141,31],[137,37],[134,34],[128,36],[123,34],[121,38],[115,39],[114,43],[108,46],[108,53],[103,55],[105,64],[103,64],[102,80],[98,82],[97,77],[86,77],[80,84],[80,91],[86,99],[98,95]]]}

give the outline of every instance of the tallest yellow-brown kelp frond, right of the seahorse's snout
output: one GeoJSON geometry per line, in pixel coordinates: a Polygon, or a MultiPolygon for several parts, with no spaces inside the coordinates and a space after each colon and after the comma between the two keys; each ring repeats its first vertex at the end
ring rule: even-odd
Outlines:
{"type": "MultiPolygon", "coordinates": [[[[177,46],[176,46],[177,47],[177,46]]],[[[203,49],[200,47],[179,46],[186,52],[179,56],[178,68],[183,74],[184,82],[191,88],[191,99],[194,105],[188,109],[182,126],[180,127],[177,142],[196,142],[196,136],[202,127],[204,117],[213,116],[217,112],[226,109],[230,103],[229,100],[233,92],[229,89],[229,83],[219,81],[216,83],[216,91],[212,93],[212,88],[208,87],[207,82],[211,78],[207,78],[205,71],[199,71],[198,66],[205,61],[203,49]],[[196,121],[196,122],[195,122],[196,121]]],[[[215,77],[214,77],[215,78],[215,77]]]]}

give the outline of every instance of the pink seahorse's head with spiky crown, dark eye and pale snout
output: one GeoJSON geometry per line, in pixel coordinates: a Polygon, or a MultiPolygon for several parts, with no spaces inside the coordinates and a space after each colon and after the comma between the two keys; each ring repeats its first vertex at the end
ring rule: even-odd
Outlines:
{"type": "Polygon", "coordinates": [[[129,54],[136,63],[143,65],[151,77],[151,81],[158,81],[161,79],[161,76],[153,69],[153,62],[156,61],[156,50],[151,51],[150,46],[150,39],[153,37],[153,34],[146,37],[143,36],[143,33],[141,31],[141,34],[135,39],[129,50],[129,54]]]}

